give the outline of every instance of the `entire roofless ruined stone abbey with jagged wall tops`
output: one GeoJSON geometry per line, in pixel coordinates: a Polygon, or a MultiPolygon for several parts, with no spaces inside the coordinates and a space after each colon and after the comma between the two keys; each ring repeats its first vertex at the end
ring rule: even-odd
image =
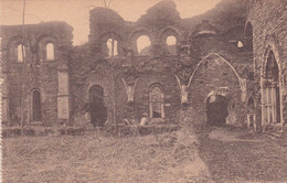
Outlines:
{"type": "Polygon", "coordinates": [[[2,25],[3,125],[108,126],[145,116],[177,125],[185,112],[199,123],[281,131],[286,20],[285,0],[223,0],[190,19],[162,1],[137,22],[95,8],[81,46],[65,22],[2,25]]]}

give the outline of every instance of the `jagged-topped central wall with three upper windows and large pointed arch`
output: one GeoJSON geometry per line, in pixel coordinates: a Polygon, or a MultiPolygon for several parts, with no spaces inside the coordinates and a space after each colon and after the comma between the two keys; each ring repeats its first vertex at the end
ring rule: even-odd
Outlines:
{"type": "Polygon", "coordinates": [[[203,98],[217,87],[227,87],[230,114],[237,119],[232,123],[244,122],[240,79],[246,78],[246,72],[252,72],[252,67],[249,54],[237,47],[237,42],[244,35],[246,11],[242,3],[234,4],[235,1],[223,2],[225,9],[221,11],[217,10],[219,6],[206,14],[183,20],[173,2],[163,1],[148,9],[137,22],[127,22],[109,9],[92,10],[89,41],[76,47],[70,65],[74,122],[89,121],[85,106],[88,103],[88,87],[94,84],[104,87],[107,122],[114,121],[114,74],[118,122],[125,118],[139,121],[145,114],[150,116],[149,87],[157,83],[163,87],[164,120],[167,123],[177,123],[181,109],[181,87],[188,85],[196,65],[212,54],[220,55],[213,61],[216,63],[220,60],[220,65],[214,65],[217,69],[202,69],[204,64],[199,66],[188,89],[191,96],[189,104],[205,116],[203,98]],[[231,14],[232,10],[237,12],[231,14]],[[150,55],[138,55],[136,41],[140,35],[149,36],[150,55]],[[167,53],[166,39],[169,35],[177,37],[177,54],[173,55],[167,53]],[[108,57],[106,47],[107,40],[111,37],[118,43],[118,55],[114,58],[108,57]],[[195,82],[198,77],[204,78],[201,78],[203,85],[195,82]],[[217,83],[213,80],[215,78],[217,83]],[[205,85],[208,83],[209,86],[205,85]],[[128,89],[132,90],[131,96],[128,96],[128,89]],[[134,100],[128,101],[128,98],[134,100]],[[193,103],[194,99],[202,101],[193,103]]]}

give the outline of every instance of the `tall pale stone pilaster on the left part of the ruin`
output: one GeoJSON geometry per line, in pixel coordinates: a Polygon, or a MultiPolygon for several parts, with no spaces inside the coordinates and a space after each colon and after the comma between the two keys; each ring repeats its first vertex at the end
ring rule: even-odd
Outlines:
{"type": "Polygon", "coordinates": [[[68,67],[62,65],[57,71],[57,119],[60,122],[70,121],[70,75],[68,67]]]}

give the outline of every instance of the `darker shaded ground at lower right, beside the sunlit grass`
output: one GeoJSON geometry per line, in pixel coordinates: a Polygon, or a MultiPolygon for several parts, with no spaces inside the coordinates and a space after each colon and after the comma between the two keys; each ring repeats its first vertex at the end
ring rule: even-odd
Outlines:
{"type": "Polygon", "coordinates": [[[199,128],[200,157],[215,182],[287,182],[287,147],[237,129],[199,128]]]}

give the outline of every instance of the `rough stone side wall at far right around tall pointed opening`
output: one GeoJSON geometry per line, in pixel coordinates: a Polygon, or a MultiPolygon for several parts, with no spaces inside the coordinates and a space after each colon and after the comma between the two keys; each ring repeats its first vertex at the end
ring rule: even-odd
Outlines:
{"type": "Polygon", "coordinates": [[[273,50],[276,61],[279,65],[280,72],[280,93],[281,93],[281,108],[283,122],[287,120],[286,108],[286,58],[287,58],[287,30],[286,30],[286,7],[287,2],[284,0],[263,0],[253,1],[247,22],[253,28],[253,51],[255,62],[255,75],[257,86],[256,92],[257,103],[257,119],[261,120],[262,107],[262,85],[264,64],[266,64],[266,53],[268,49],[273,50]]]}

